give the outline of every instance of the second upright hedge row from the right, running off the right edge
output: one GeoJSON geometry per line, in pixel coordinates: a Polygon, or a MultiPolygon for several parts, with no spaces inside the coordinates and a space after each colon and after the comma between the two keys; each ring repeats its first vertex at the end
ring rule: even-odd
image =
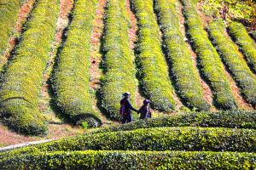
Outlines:
{"type": "Polygon", "coordinates": [[[256,105],[256,79],[231,39],[225,36],[224,22],[222,20],[214,21],[208,29],[212,43],[238,82],[241,94],[244,95],[247,102],[256,105]]]}

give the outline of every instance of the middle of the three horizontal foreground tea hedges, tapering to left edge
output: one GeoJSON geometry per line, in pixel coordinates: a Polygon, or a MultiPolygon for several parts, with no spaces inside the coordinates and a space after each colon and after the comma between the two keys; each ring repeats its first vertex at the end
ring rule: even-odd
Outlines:
{"type": "Polygon", "coordinates": [[[256,130],[210,127],[154,127],[85,134],[0,153],[0,159],[34,151],[188,150],[256,151],[256,130]]]}

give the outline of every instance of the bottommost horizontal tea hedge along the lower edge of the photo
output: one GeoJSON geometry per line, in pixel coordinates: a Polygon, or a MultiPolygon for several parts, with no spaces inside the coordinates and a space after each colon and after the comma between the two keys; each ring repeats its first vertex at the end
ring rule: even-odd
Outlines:
{"type": "Polygon", "coordinates": [[[255,153],[184,151],[44,152],[0,160],[3,169],[253,169],[255,153]]]}

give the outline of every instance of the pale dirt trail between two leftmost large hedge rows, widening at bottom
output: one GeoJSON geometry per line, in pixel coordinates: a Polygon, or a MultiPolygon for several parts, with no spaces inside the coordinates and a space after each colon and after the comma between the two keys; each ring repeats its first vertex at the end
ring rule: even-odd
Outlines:
{"type": "Polygon", "coordinates": [[[49,52],[49,61],[44,71],[44,82],[40,93],[41,98],[38,107],[44,116],[47,117],[49,122],[49,133],[46,137],[44,137],[46,139],[55,139],[61,138],[63,136],[73,136],[79,133],[83,133],[83,129],[81,127],[73,127],[72,125],[67,124],[61,120],[56,115],[55,108],[52,106],[52,98],[50,94],[51,87],[49,82],[51,72],[55,65],[55,56],[57,54],[58,48],[61,46],[61,42],[63,41],[62,35],[68,26],[68,16],[72,12],[73,5],[73,0],[61,0],[60,14],[55,27],[55,41],[52,43],[52,48],[49,52]]]}

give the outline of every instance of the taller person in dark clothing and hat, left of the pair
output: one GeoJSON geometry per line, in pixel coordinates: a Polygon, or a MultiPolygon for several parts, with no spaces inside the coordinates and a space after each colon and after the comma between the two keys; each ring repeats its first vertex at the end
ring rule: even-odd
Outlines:
{"type": "Polygon", "coordinates": [[[120,101],[120,114],[123,116],[122,123],[132,122],[131,111],[137,111],[134,109],[129,101],[130,93],[125,92],[123,94],[124,98],[120,101]]]}

